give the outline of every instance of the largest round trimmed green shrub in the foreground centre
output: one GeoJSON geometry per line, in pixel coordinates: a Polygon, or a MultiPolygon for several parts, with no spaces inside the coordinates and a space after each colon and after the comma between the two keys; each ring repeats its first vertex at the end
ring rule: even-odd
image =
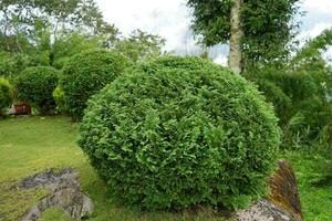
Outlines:
{"type": "Polygon", "coordinates": [[[266,193],[280,130],[242,77],[197,57],[128,70],[95,95],[80,146],[117,199],[238,208],[266,193]]]}

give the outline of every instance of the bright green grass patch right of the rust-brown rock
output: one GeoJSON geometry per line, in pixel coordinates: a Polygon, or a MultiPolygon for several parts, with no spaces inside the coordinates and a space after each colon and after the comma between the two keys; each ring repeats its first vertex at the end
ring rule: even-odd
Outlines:
{"type": "Polygon", "coordinates": [[[287,158],[295,170],[305,220],[331,221],[332,161],[304,151],[288,152],[287,158]]]}

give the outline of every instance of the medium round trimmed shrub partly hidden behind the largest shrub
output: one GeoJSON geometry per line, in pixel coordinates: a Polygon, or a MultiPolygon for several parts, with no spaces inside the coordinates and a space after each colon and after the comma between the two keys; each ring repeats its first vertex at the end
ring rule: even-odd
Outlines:
{"type": "Polygon", "coordinates": [[[107,50],[87,50],[71,57],[60,85],[73,119],[81,119],[90,96],[114,81],[127,65],[123,55],[107,50]]]}

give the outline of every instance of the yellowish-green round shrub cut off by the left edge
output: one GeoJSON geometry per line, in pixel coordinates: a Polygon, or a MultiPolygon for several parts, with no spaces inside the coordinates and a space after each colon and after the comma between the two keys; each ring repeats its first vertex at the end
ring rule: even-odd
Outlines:
{"type": "Polygon", "coordinates": [[[13,99],[13,90],[9,81],[0,77],[0,116],[4,114],[6,108],[10,107],[13,99]]]}

